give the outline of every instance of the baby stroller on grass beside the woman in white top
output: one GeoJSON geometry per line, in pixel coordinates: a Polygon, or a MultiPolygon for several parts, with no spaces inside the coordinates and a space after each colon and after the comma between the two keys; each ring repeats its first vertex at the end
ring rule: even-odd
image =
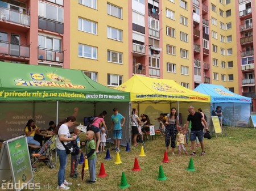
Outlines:
{"type": "Polygon", "coordinates": [[[46,165],[49,166],[49,168],[55,168],[56,163],[53,162],[52,159],[52,152],[56,148],[56,135],[53,135],[51,138],[49,138],[46,143],[40,148],[38,153],[31,154],[31,165],[32,165],[32,171],[36,172],[36,165],[35,163],[37,161],[44,162],[46,165]]]}

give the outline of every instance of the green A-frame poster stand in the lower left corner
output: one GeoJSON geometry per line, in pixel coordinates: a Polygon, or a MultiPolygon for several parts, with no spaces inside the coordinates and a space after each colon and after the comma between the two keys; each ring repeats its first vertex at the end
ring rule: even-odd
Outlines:
{"type": "MultiPolygon", "coordinates": [[[[0,181],[1,188],[15,191],[27,188],[31,181],[34,183],[26,136],[3,142],[0,153],[0,181]]],[[[32,186],[35,190],[34,184],[32,186]]]]}

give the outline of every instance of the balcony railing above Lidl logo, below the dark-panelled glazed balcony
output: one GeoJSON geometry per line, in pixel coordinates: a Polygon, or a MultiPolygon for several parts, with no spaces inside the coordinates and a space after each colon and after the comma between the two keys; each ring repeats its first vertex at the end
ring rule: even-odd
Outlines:
{"type": "Polygon", "coordinates": [[[63,63],[64,54],[56,50],[38,48],[38,60],[47,60],[52,62],[63,63]]]}

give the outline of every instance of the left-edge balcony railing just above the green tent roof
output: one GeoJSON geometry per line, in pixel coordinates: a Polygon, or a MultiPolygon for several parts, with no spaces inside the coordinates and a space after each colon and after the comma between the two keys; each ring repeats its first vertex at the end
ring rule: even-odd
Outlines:
{"type": "Polygon", "coordinates": [[[30,46],[12,44],[12,43],[0,40],[0,54],[29,58],[30,46]]]}

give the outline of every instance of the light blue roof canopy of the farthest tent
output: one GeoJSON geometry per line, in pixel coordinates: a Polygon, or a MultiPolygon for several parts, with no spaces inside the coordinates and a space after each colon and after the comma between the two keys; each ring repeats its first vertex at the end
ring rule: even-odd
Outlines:
{"type": "Polygon", "coordinates": [[[221,85],[201,83],[194,91],[210,95],[211,103],[251,103],[250,97],[234,94],[221,85]]]}

